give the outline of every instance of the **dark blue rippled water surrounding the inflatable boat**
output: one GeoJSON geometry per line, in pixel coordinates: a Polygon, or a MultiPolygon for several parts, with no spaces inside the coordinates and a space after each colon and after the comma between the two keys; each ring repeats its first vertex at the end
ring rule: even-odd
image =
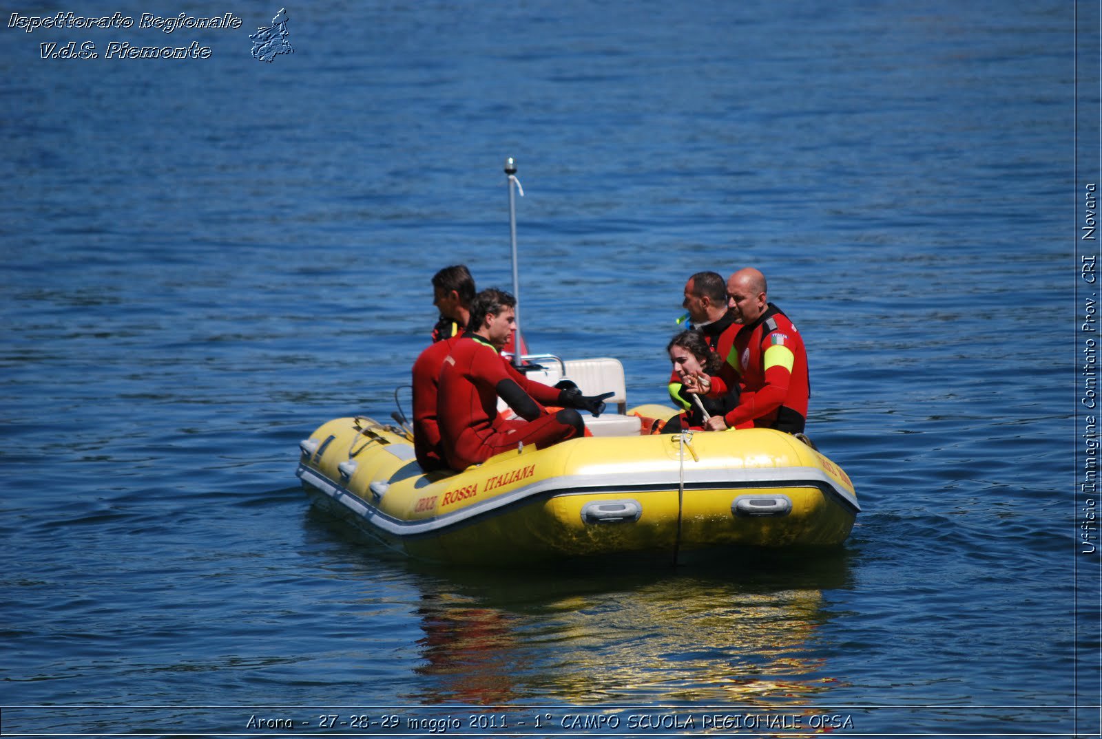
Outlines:
{"type": "MultiPolygon", "coordinates": [[[[4,13],[79,10],[39,8],[4,13]]],[[[1096,730],[1070,3],[314,2],[257,61],[278,10],[0,28],[4,731],[1096,730]],[[99,57],[42,58],[69,41],[99,57]],[[841,551],[454,570],[310,509],[298,442],[389,416],[432,273],[511,287],[506,156],[529,345],[619,357],[630,404],[663,399],[689,274],[766,273],[864,508],[841,551]]]]}

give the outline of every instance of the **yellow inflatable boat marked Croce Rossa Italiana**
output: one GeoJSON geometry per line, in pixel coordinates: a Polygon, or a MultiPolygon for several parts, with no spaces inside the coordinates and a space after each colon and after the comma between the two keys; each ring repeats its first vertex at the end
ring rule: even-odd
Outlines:
{"type": "Polygon", "coordinates": [[[301,443],[298,476],[389,546],[454,563],[838,545],[861,510],[849,476],[789,434],[644,436],[623,407],[586,423],[592,437],[425,474],[400,427],[336,419],[301,443]]]}

